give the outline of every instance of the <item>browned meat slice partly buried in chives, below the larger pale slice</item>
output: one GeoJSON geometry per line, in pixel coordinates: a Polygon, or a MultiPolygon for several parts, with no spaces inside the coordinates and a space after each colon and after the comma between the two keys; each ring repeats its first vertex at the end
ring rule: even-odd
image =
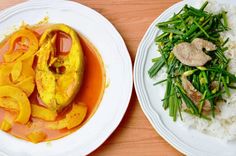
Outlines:
{"type": "MultiPolygon", "coordinates": [[[[196,106],[198,106],[202,98],[202,93],[200,93],[194,88],[194,86],[191,84],[191,82],[188,81],[186,76],[183,75],[181,77],[181,80],[182,80],[182,86],[186,91],[187,96],[193,101],[193,103],[196,106]]],[[[209,100],[205,100],[202,109],[204,112],[209,112],[211,110],[211,103],[209,100]]]]}

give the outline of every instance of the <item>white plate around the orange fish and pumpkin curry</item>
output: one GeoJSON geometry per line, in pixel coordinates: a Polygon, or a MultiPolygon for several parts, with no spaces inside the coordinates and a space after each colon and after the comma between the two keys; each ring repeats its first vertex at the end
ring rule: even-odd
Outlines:
{"type": "Polygon", "coordinates": [[[0,12],[0,36],[13,31],[22,21],[36,24],[45,16],[49,17],[50,23],[72,26],[95,45],[104,61],[110,84],[96,113],[78,131],[59,140],[39,144],[0,132],[0,155],[86,155],[115,130],[129,104],[132,92],[129,53],[114,26],[96,11],[71,1],[28,1],[0,12]]]}

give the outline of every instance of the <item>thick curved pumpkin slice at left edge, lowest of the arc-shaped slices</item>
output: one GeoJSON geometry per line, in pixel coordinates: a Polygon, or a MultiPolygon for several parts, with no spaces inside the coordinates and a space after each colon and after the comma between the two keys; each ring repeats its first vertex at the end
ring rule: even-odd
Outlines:
{"type": "Polygon", "coordinates": [[[22,90],[13,86],[0,86],[0,97],[9,97],[17,101],[19,114],[15,119],[16,122],[26,124],[29,121],[31,114],[30,102],[22,90]]]}

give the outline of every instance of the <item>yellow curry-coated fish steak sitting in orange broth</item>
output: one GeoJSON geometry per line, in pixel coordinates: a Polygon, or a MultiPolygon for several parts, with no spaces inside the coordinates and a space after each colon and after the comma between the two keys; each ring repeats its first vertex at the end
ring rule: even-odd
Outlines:
{"type": "Polygon", "coordinates": [[[48,28],[41,36],[39,45],[36,67],[39,97],[47,108],[59,112],[71,103],[82,84],[84,72],[82,47],[76,31],[64,24],[56,24],[48,28]],[[72,44],[67,55],[56,54],[56,36],[53,35],[55,31],[70,36],[72,44]]]}

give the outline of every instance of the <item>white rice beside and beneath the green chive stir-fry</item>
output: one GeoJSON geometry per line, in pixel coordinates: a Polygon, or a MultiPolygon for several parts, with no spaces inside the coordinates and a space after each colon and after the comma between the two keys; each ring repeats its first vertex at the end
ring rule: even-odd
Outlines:
{"type": "MultiPolygon", "coordinates": [[[[201,4],[203,1],[199,1],[201,4]]],[[[228,4],[219,4],[216,0],[209,0],[206,8],[212,13],[219,13],[222,10],[227,11],[230,31],[221,34],[223,39],[229,37],[227,46],[229,50],[226,56],[231,58],[229,71],[236,74],[236,7],[228,4]]],[[[198,117],[183,113],[183,123],[189,128],[197,129],[205,134],[229,141],[236,139],[236,92],[231,91],[231,97],[224,97],[225,103],[219,103],[221,113],[214,119],[207,121],[198,117]]]]}

